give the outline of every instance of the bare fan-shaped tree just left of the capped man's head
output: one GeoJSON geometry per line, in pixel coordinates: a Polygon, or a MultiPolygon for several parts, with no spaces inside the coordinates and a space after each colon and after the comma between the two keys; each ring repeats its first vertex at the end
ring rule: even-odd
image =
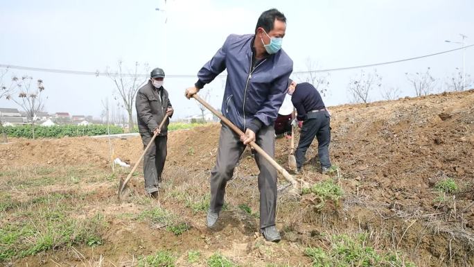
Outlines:
{"type": "MultiPolygon", "coordinates": [[[[123,108],[128,113],[128,127],[133,129],[133,108],[135,96],[137,95],[138,89],[141,85],[146,82],[148,78],[144,78],[139,74],[140,64],[135,62],[135,67],[132,71],[123,68],[123,62],[119,60],[117,71],[110,71],[107,67],[105,71],[106,75],[114,81],[116,86],[116,92],[119,93],[123,108]]],[[[143,64],[143,69],[148,71],[148,64],[143,64]]],[[[113,115],[112,115],[113,117],[113,115]]]]}

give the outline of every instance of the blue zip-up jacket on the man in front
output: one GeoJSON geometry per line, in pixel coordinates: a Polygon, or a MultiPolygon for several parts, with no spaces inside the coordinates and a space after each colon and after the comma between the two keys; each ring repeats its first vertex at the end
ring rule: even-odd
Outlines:
{"type": "Polygon", "coordinates": [[[262,124],[270,126],[278,116],[293,71],[293,61],[280,49],[254,64],[254,35],[229,35],[224,45],[198,73],[196,87],[227,69],[227,82],[222,100],[222,114],[240,130],[258,132],[262,124]]]}

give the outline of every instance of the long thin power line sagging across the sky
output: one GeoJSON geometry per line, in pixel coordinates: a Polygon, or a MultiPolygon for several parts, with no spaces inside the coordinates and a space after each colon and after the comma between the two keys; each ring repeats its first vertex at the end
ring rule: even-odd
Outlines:
{"type": "MultiPolygon", "coordinates": [[[[309,73],[317,73],[317,72],[331,72],[331,71],[343,71],[343,70],[348,70],[348,69],[361,69],[361,68],[366,68],[366,67],[375,67],[375,66],[381,66],[381,65],[387,65],[387,64],[394,64],[394,63],[399,63],[399,62],[405,62],[405,61],[410,61],[410,60],[419,60],[421,58],[428,58],[432,57],[435,55],[441,55],[444,53],[450,53],[453,51],[461,50],[461,49],[467,49],[474,46],[474,44],[460,47],[457,49],[451,49],[448,51],[441,51],[438,53],[432,53],[429,55],[421,55],[419,57],[414,57],[414,58],[405,58],[403,60],[394,60],[394,61],[388,61],[388,62],[380,62],[380,63],[374,63],[374,64],[365,64],[365,65],[359,65],[359,66],[353,66],[353,67],[341,67],[341,68],[335,68],[335,69],[315,69],[315,70],[309,70],[309,71],[293,71],[293,74],[309,74],[309,73]]],[[[45,68],[37,68],[37,67],[24,67],[24,66],[16,66],[16,65],[9,65],[9,64],[0,64],[0,67],[3,68],[8,68],[8,69],[21,69],[21,70],[26,70],[26,71],[41,71],[41,72],[51,72],[55,74],[74,74],[74,75],[88,75],[88,76],[117,76],[118,74],[116,73],[107,73],[103,71],[73,71],[73,70],[68,70],[68,69],[45,69],[45,68]]],[[[143,76],[143,77],[148,77],[150,74],[138,74],[137,76],[143,76]]],[[[123,76],[131,76],[133,77],[134,75],[130,74],[123,74],[123,76]]],[[[220,75],[220,76],[226,76],[226,75],[220,75]]],[[[189,74],[168,74],[166,75],[166,78],[195,78],[196,75],[189,75],[189,74]]]]}

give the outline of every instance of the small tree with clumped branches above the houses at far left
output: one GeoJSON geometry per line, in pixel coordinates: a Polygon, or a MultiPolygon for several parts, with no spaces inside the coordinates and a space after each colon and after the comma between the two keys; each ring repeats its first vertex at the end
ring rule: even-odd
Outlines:
{"type": "Polygon", "coordinates": [[[31,76],[13,77],[12,81],[16,84],[19,93],[18,96],[9,95],[7,99],[15,102],[26,112],[26,119],[31,122],[33,139],[35,139],[36,114],[43,110],[44,107],[42,98],[42,92],[44,91],[43,80],[37,80],[36,87],[32,85],[33,77],[31,76]]]}

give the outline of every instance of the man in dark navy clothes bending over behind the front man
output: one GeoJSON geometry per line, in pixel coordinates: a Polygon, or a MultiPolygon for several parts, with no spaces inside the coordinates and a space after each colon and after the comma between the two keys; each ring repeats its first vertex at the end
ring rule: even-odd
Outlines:
{"type": "Polygon", "coordinates": [[[294,80],[288,82],[288,94],[291,102],[297,110],[297,121],[301,132],[299,144],[295,152],[297,161],[297,173],[305,161],[306,150],[308,150],[315,137],[317,138],[317,155],[321,163],[322,173],[327,173],[331,168],[329,160],[329,142],[331,141],[330,115],[321,95],[310,83],[296,83],[294,80]],[[301,126],[301,121],[303,121],[301,126]]]}

